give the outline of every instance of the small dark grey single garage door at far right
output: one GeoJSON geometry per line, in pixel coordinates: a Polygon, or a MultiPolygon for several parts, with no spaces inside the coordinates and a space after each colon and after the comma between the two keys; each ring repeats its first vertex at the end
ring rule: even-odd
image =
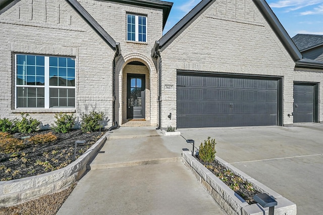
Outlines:
{"type": "Polygon", "coordinates": [[[294,123],[317,122],[317,84],[294,83],[294,123]]]}

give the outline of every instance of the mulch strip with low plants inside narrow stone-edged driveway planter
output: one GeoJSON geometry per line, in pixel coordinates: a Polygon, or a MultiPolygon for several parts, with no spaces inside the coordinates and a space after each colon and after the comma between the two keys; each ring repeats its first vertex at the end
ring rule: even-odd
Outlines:
{"type": "Polygon", "coordinates": [[[243,181],[240,177],[234,175],[230,170],[219,164],[217,160],[214,160],[212,163],[205,163],[200,160],[198,156],[195,158],[198,159],[204,167],[211,171],[211,173],[220,178],[220,180],[228,187],[234,190],[235,193],[241,196],[241,198],[243,198],[248,204],[256,203],[252,197],[260,192],[254,189],[252,184],[243,181]]]}

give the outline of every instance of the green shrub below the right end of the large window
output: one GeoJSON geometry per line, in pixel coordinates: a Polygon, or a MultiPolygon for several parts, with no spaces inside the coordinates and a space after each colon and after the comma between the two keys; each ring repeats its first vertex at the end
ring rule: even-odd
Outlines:
{"type": "Polygon", "coordinates": [[[76,117],[69,114],[55,114],[56,121],[51,125],[52,129],[59,133],[68,133],[75,125],[76,117]]]}

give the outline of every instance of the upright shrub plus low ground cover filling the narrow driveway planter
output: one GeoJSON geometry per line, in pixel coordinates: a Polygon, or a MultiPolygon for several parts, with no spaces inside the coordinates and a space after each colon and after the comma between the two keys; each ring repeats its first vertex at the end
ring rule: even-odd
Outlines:
{"type": "Polygon", "coordinates": [[[235,175],[231,170],[225,168],[216,160],[216,144],[215,139],[207,137],[207,139],[200,144],[196,158],[204,167],[241,196],[248,204],[255,203],[253,196],[260,192],[255,190],[251,183],[244,181],[241,177],[235,175]]]}

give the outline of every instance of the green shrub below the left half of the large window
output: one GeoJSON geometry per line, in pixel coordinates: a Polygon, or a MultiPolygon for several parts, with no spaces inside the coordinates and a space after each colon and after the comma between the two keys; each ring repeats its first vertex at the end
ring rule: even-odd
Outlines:
{"type": "Polygon", "coordinates": [[[39,129],[39,126],[41,125],[41,122],[36,119],[33,119],[31,117],[29,119],[27,119],[28,116],[29,116],[29,114],[22,113],[21,120],[15,119],[14,120],[14,124],[15,124],[14,130],[18,130],[18,132],[24,133],[24,134],[29,134],[31,132],[37,131],[39,129]]]}

